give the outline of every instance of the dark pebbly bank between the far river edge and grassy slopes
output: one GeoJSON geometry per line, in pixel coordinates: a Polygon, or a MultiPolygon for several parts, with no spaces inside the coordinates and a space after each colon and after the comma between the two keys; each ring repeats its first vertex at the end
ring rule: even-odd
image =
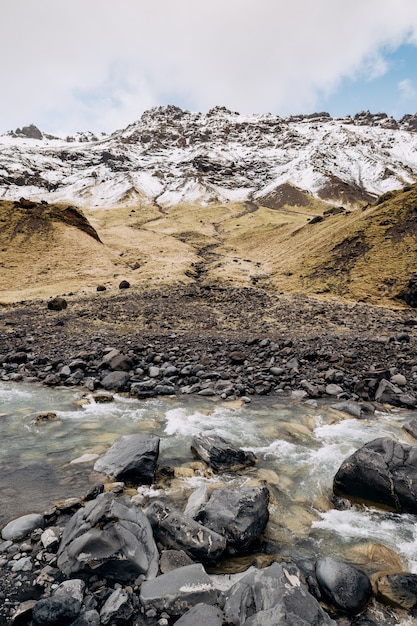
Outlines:
{"type": "Polygon", "coordinates": [[[256,289],[65,296],[0,308],[0,379],[138,398],[296,393],[417,405],[417,314],[256,289]]]}

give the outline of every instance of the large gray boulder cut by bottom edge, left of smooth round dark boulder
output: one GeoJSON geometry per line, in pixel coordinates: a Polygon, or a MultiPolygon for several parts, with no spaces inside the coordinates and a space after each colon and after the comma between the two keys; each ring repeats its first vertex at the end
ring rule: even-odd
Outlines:
{"type": "Polygon", "coordinates": [[[227,593],[223,611],[227,623],[242,626],[336,626],[293,563],[247,574],[227,593]]]}

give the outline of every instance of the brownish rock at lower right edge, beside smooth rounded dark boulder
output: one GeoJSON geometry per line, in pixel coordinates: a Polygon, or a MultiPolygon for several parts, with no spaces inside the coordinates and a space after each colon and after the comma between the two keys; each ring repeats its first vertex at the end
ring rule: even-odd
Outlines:
{"type": "Polygon", "coordinates": [[[378,600],[411,610],[417,606],[417,575],[380,574],[373,578],[378,600]]]}

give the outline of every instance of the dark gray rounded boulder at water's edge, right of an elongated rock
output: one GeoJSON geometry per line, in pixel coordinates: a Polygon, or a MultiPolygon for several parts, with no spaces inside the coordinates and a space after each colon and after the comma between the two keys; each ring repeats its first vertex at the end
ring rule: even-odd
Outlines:
{"type": "Polygon", "coordinates": [[[266,487],[222,487],[213,491],[197,521],[227,539],[228,548],[249,546],[265,530],[269,519],[266,487]]]}

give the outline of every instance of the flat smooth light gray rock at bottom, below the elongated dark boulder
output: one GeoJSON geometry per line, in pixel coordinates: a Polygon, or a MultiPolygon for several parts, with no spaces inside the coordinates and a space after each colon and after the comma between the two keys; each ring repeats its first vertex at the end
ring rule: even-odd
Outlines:
{"type": "Polygon", "coordinates": [[[216,604],[218,592],[200,564],[180,567],[153,580],[145,580],[140,601],[145,610],[182,615],[199,603],[216,604]]]}

